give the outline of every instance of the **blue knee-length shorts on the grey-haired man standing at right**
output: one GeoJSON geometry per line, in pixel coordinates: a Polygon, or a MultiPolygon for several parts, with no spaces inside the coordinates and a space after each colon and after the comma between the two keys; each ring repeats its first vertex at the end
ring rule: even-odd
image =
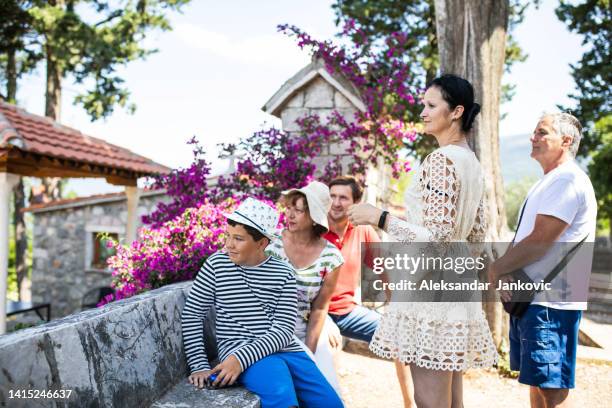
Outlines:
{"type": "Polygon", "coordinates": [[[540,388],[574,388],[580,310],[530,305],[510,316],[510,368],[519,382],[540,388]]]}

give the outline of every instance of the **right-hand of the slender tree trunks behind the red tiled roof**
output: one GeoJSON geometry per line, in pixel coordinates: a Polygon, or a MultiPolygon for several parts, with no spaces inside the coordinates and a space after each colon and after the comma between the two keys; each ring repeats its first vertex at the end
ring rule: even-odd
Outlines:
{"type": "MultiPolygon", "coordinates": [[[[62,107],[62,71],[53,55],[52,47],[47,45],[47,91],[45,94],[45,116],[59,121],[62,107]]],[[[62,198],[62,183],[58,177],[42,179],[45,186],[45,201],[62,198]]]]}

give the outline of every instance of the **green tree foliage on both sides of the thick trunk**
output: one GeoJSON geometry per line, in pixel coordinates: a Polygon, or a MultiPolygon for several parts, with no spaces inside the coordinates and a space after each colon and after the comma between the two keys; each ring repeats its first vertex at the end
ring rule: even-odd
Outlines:
{"type": "MultiPolygon", "coordinates": [[[[535,1],[536,5],[539,1],[535,1]]],[[[523,53],[512,37],[512,29],[523,21],[529,2],[511,0],[510,27],[506,44],[506,71],[516,62],[524,61],[523,53]]],[[[362,53],[383,47],[384,40],[394,32],[407,35],[408,41],[400,52],[410,62],[413,72],[411,85],[424,88],[434,79],[439,69],[438,41],[434,0],[336,0],[332,6],[336,13],[336,24],[346,24],[353,20],[357,30],[353,36],[360,36],[364,42],[362,53]]],[[[503,101],[512,98],[514,86],[503,85],[503,101]]],[[[414,105],[406,112],[406,119],[418,117],[420,106],[414,105]]],[[[415,145],[418,156],[423,157],[433,149],[431,138],[420,138],[415,145]]]]}

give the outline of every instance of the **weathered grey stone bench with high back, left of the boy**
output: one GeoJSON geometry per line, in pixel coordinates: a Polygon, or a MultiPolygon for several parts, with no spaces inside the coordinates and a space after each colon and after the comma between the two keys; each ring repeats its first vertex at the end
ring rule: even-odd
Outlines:
{"type": "Polygon", "coordinates": [[[180,315],[191,282],[0,336],[0,406],[259,407],[241,387],[196,390],[180,315]],[[71,390],[69,399],[11,399],[17,390],[71,390]]]}

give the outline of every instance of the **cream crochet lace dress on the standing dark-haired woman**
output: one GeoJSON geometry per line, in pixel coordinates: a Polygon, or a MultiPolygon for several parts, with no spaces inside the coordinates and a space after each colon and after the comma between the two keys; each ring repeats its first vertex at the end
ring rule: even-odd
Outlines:
{"type": "MultiPolygon", "coordinates": [[[[484,241],[484,177],[476,155],[456,145],[435,150],[417,170],[406,207],[406,220],[388,222],[397,241],[484,241]]],[[[391,302],[370,349],[432,370],[490,367],[498,357],[480,302],[391,302]]]]}

